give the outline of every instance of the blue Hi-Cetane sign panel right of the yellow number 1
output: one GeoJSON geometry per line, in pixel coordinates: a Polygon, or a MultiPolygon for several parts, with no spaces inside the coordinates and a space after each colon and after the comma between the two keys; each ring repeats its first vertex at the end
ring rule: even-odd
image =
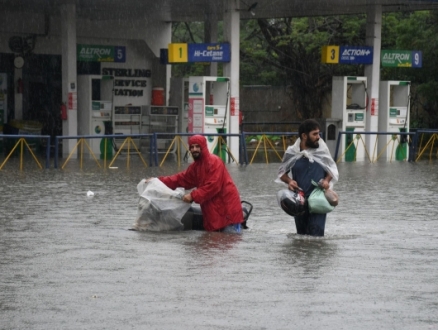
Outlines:
{"type": "Polygon", "coordinates": [[[229,43],[189,44],[189,62],[230,62],[229,43]]]}

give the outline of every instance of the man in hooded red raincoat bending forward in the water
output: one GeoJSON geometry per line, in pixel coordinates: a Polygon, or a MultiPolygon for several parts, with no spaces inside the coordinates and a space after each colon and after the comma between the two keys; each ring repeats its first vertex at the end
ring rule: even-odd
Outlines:
{"type": "Polygon", "coordinates": [[[183,201],[200,204],[205,230],[240,234],[240,195],[223,161],[209,152],[202,135],[191,136],[189,148],[195,161],[183,172],[158,179],[171,189],[196,188],[184,195],[183,201]]]}

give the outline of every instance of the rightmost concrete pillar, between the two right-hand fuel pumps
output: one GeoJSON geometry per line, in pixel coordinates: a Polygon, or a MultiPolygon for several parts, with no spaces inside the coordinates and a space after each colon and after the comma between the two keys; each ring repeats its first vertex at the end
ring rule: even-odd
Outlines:
{"type": "MultiPolygon", "coordinates": [[[[367,77],[368,107],[366,111],[366,131],[377,132],[379,115],[380,48],[382,44],[382,6],[369,5],[367,9],[366,45],[373,47],[373,64],[365,65],[367,77]]],[[[368,152],[373,152],[376,135],[366,135],[368,152]]]]}

